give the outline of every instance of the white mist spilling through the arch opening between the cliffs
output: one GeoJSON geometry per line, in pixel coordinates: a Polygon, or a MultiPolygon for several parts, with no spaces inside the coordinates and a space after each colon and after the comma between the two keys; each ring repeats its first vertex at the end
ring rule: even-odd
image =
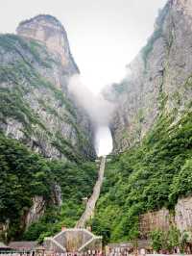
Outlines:
{"type": "Polygon", "coordinates": [[[68,90],[92,121],[97,156],[107,156],[112,151],[112,136],[108,123],[115,108],[114,104],[108,102],[102,93],[94,94],[89,90],[79,74],[70,78],[68,90]]]}

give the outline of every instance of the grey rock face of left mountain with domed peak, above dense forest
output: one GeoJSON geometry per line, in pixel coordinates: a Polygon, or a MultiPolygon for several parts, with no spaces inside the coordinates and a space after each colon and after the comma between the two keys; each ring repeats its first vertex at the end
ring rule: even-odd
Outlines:
{"type": "Polygon", "coordinates": [[[0,36],[1,130],[45,157],[93,157],[88,116],[67,89],[79,70],[62,25],[38,15],[17,32],[0,36]]]}

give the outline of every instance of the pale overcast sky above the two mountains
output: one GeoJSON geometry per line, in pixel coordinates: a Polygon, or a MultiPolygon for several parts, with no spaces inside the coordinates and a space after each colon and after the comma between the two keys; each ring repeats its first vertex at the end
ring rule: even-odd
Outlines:
{"type": "Polygon", "coordinates": [[[38,13],[60,19],[84,84],[101,90],[118,82],[154,30],[166,0],[0,0],[0,32],[38,13]]]}

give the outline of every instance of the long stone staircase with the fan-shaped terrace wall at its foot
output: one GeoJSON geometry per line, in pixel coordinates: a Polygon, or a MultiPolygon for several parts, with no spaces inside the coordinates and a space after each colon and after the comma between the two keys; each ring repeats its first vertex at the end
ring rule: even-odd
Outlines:
{"type": "Polygon", "coordinates": [[[104,171],[106,165],[106,157],[101,158],[98,171],[98,179],[93,188],[92,195],[86,203],[84,214],[77,222],[75,228],[66,228],[54,237],[45,238],[44,247],[46,251],[66,253],[78,252],[83,253],[87,250],[102,250],[102,237],[95,236],[85,229],[87,220],[93,217],[96,202],[100,196],[104,171]]]}

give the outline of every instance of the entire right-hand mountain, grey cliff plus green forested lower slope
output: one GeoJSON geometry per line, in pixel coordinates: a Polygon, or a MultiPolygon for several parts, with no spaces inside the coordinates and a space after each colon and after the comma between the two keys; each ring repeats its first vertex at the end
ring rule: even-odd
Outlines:
{"type": "Polygon", "coordinates": [[[110,123],[116,154],[92,228],[106,242],[151,238],[156,251],[171,253],[190,240],[191,10],[190,0],[168,1],[130,74],[104,91],[117,105],[110,123]]]}

